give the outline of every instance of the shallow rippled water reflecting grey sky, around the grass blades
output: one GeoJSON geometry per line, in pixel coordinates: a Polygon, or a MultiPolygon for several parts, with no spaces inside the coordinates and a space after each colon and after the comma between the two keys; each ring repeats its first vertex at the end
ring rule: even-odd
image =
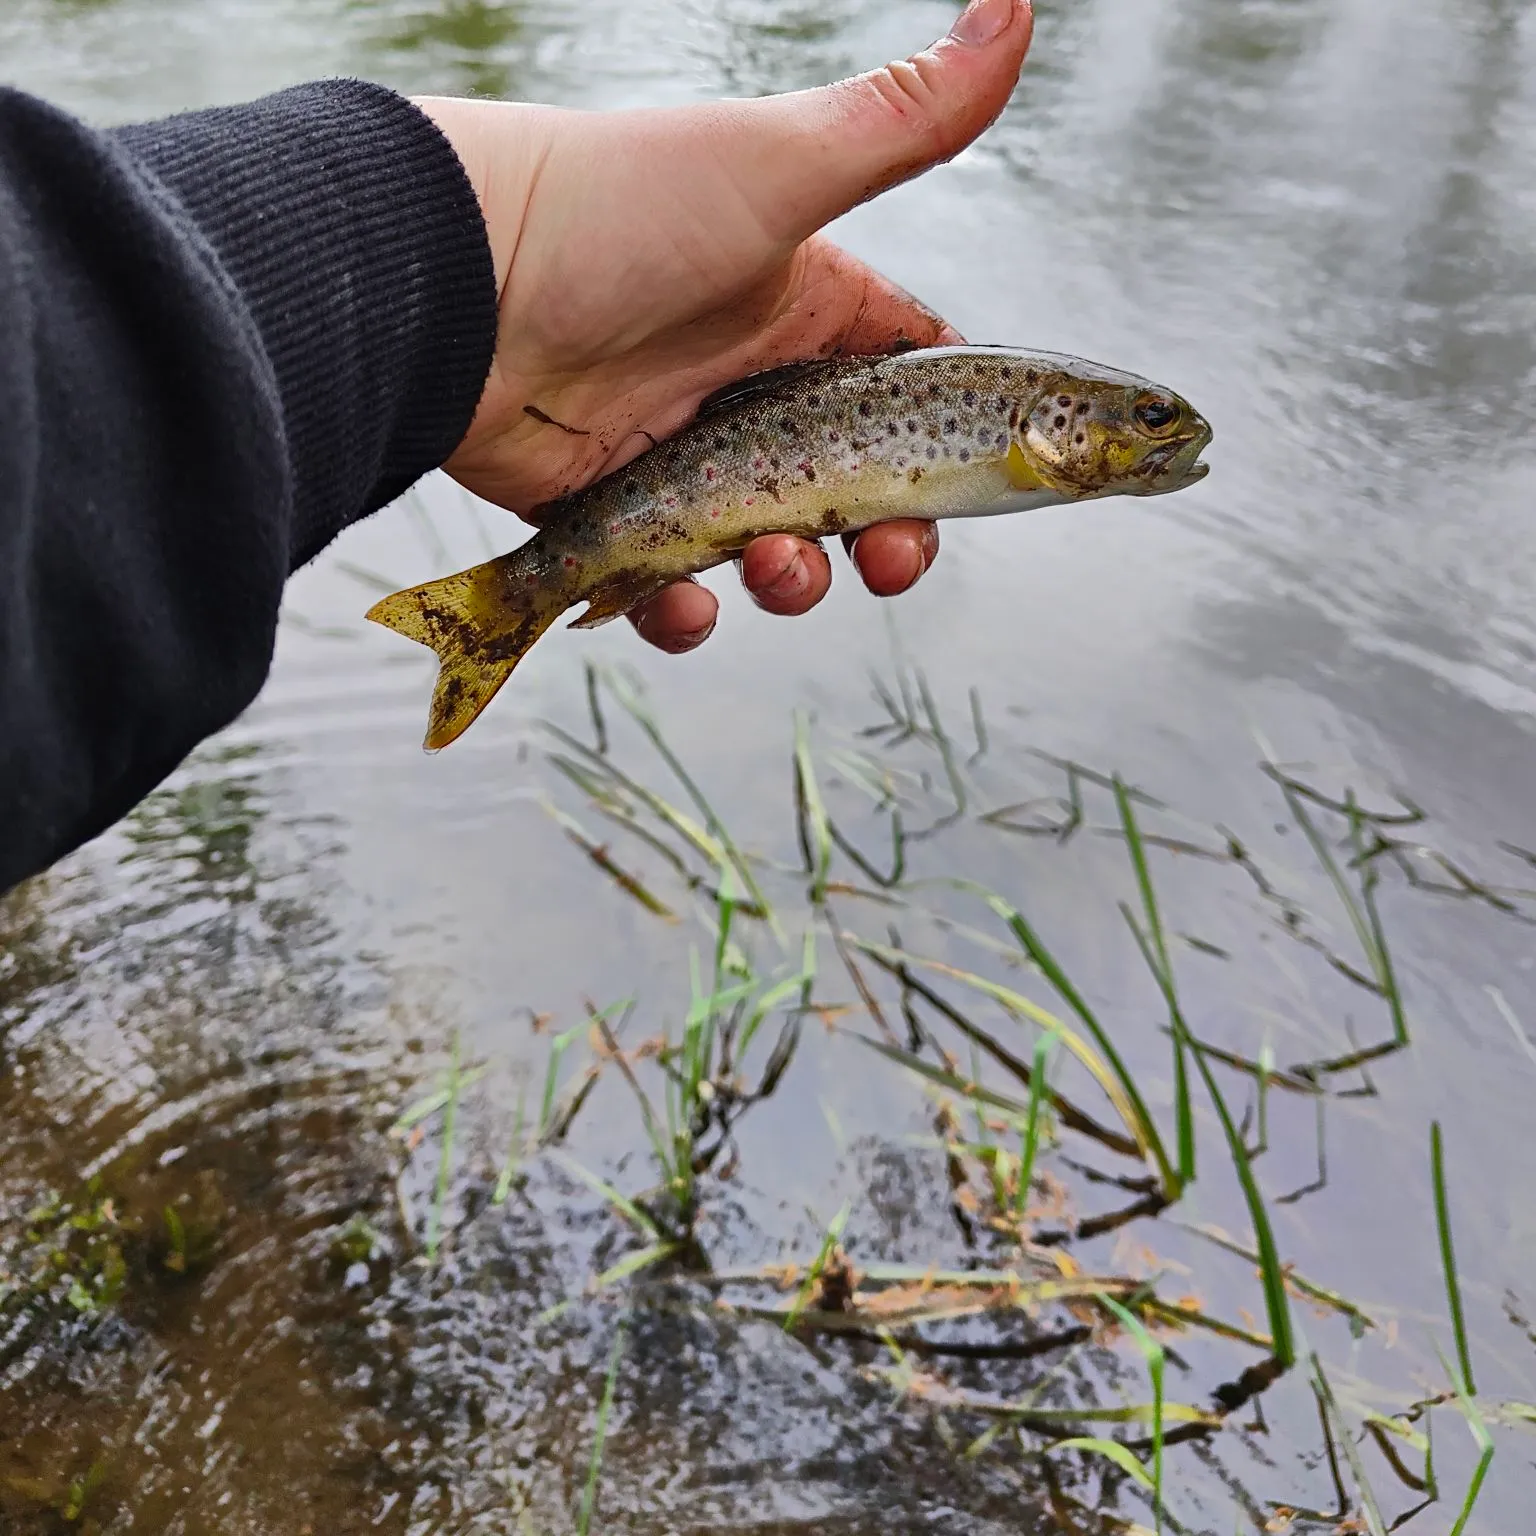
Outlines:
{"type": "MultiPolygon", "coordinates": [[[[922,46],[951,14],[909,0],[20,0],[0,15],[0,77],[101,121],[324,72],[582,106],[677,101],[831,78],[922,46]]],[[[1398,788],[1433,814],[1424,837],[1458,866],[1536,885],[1499,848],[1536,846],[1533,66],[1536,12],[1496,0],[1041,0],[1026,83],[997,127],[843,223],[848,244],[972,339],[1149,373],[1217,429],[1212,475],[1189,493],[951,528],[932,576],[891,605],[966,751],[968,690],[980,690],[991,740],[971,809],[1061,793],[1031,748],[1120,771],[1207,843],[1217,823],[1240,831],[1356,958],[1261,757],[1307,763],[1310,780],[1372,805],[1398,788]]],[[[490,1190],[551,1034],[584,998],[631,994],[636,1040],[668,1020],[676,1034],[688,948],[710,938],[659,922],[570,846],[545,799],[593,834],[602,822],[550,768],[538,720],[587,731],[584,660],[633,665],[733,834],[793,863],[791,714],[809,711],[822,745],[869,750],[856,736],[880,716],[868,673],[891,662],[882,613],[843,571],[794,624],[720,579],[722,622],[697,656],[556,633],[476,730],[429,760],[416,743],[430,660],[361,624],[372,588],[359,573],[421,581],[519,536],[438,479],[350,531],[292,584],[276,668],[247,716],[121,828],[0,906],[0,1266],[32,1252],[23,1232],[46,1192],[78,1198],[92,1174],[112,1217],[140,1223],[104,1319],[65,1322],[65,1307],[6,1322],[0,1528],[61,1528],[71,1482],[92,1465],[84,1519],[112,1531],[499,1530],[524,1508],[539,1530],[568,1528],[617,1313],[541,1313],[628,1240],[548,1160],[505,1206],[490,1190]],[[553,1021],[533,1029],[544,1014],[553,1021]],[[455,1032],[464,1060],[490,1071],[459,1115],[450,1240],[429,1270],[438,1130],[410,1150],[386,1132],[435,1086],[455,1032]],[[167,1204],[184,1217],[180,1250],[167,1204]],[[359,1215],[379,1233],[362,1260],[367,1243],[339,1241],[359,1215]]],[[[614,756],[677,794],[636,733],[614,756]]],[[[925,803],[942,806],[932,754],[926,768],[925,803]]],[[[857,819],[857,791],[829,794],[880,848],[883,823],[857,819]]],[[[1112,820],[1103,794],[1089,809],[1112,820]]],[[[614,854],[684,909],[644,846],[614,854]]],[[[966,823],[912,863],[1029,912],[1166,1120],[1163,1015],[1117,909],[1135,894],[1123,849],[966,823]]],[[[1170,926],[1230,954],[1180,951],[1197,1032],[1249,1054],[1269,1040],[1281,1064],[1384,1032],[1381,1000],[1276,928],[1241,871],[1166,856],[1157,872],[1170,926]]],[[[794,888],[773,877],[791,937],[794,888]]],[[[1375,1097],[1329,1101],[1327,1187],[1276,1206],[1276,1236],[1301,1273],[1393,1319],[1393,1347],[1355,1349],[1336,1321],[1306,1313],[1336,1389],[1396,1404],[1415,1382],[1444,1384],[1428,1342],[1450,1350],[1428,1203],[1438,1118],[1479,1393],[1531,1401],[1536,1342],[1511,1321],[1536,1307],[1531,931],[1390,871],[1381,903],[1413,1043],[1372,1068],[1375,1097]]],[[[960,899],[949,909],[986,922],[960,899]]],[[[839,915],[886,937],[882,909],[848,902],[839,915]]],[[[895,922],[912,949],[989,962],[920,912],[895,922]]],[[[816,1000],[857,1001],[822,948],[816,1000]]],[[[573,1046],[571,1068],[585,1049],[573,1046]]],[[[1241,1080],[1230,1092],[1243,1101],[1241,1080]]],[[[1279,1095],[1272,1107],[1260,1169],[1273,1197],[1313,1177],[1316,1152],[1312,1107],[1279,1095]]],[[[780,1091],[740,1127],[739,1178],[707,1201],[710,1256],[803,1260],[846,1200],[860,1263],[962,1263],[943,1160],[920,1144],[928,1121],[894,1068],[808,1029],[780,1091]]],[[[1209,1115],[1200,1135],[1215,1172],[1183,1215],[1241,1232],[1209,1115]]],[[[567,1150],[628,1190],[650,1183],[611,1072],[567,1150]]],[[[1181,1284],[1213,1310],[1260,1312],[1241,1263],[1213,1263],[1166,1224],[1135,1230],[1189,1266],[1181,1284]]],[[[1250,1359],[1198,1341],[1187,1353],[1170,1392],[1190,1401],[1250,1359]]],[[[892,1407],[848,1361],[773,1329],[634,1312],[601,1519],[1061,1528],[1038,1461],[958,1462],[931,1410],[892,1407]]],[[[1081,1381],[1106,1402],[1123,1381],[1134,1399],[1138,1370],[1091,1350],[1043,1401],[1078,1401],[1081,1381]]],[[[1170,1452],[1170,1496],[1192,1528],[1253,1528],[1249,1501],[1332,1505],[1304,1381],[1276,1389],[1266,1415],[1267,1436],[1170,1452]]],[[[1452,1505],[1468,1452],[1445,1415],[1436,1455],[1452,1505]]],[[[1522,1528],[1531,1461],[1528,1430],[1501,1433],[1468,1530],[1522,1528]]],[[[1372,1471],[1392,1490],[1389,1519],[1413,1502],[1382,1462],[1372,1471]]],[[[1448,1528],[1447,1516],[1442,1505],[1424,1524],[1448,1528]]]]}

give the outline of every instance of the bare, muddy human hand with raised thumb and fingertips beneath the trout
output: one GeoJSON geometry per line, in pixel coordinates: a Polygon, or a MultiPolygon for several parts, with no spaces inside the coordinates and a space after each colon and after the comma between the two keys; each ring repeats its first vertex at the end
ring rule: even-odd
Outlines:
{"type": "MultiPolygon", "coordinates": [[[[418,101],[464,161],[496,266],[490,378],[445,468],[530,522],[685,425],[757,369],[960,336],[817,232],[951,158],[1003,109],[1029,48],[1028,0],[975,0],[915,57],[816,91],[625,112],[418,101]]],[[[938,553],[926,522],[851,545],[865,585],[905,591],[938,553]]],[[[826,594],[819,544],[768,535],[742,579],[771,613],[826,594]]],[[[630,617],[687,651],[714,628],[707,588],[630,617]]]]}

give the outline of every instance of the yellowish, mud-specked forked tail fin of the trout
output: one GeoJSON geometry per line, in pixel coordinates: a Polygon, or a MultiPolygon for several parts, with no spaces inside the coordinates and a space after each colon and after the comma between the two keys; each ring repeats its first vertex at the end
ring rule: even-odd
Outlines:
{"type": "Polygon", "coordinates": [[[427,751],[458,740],[511,676],[533,642],[565,611],[567,599],[528,585],[522,550],[456,576],[398,591],[367,617],[438,653],[438,687],[427,717],[427,751]]]}

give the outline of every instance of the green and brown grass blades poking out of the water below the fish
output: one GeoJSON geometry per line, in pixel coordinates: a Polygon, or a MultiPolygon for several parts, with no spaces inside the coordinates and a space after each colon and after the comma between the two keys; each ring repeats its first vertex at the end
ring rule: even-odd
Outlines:
{"type": "MultiPolygon", "coordinates": [[[[1284,1135],[1281,1106],[1293,1101],[1276,1097],[1272,1106],[1270,1089],[1315,1100],[1321,1112],[1322,1101],[1336,1095],[1327,1083],[1330,1074],[1364,1068],[1370,1060],[1410,1044],[1398,971],[1378,905],[1378,889],[1390,866],[1372,839],[1381,837],[1379,828],[1385,823],[1376,813],[1362,809],[1353,794],[1330,799],[1310,791],[1295,777],[1278,780],[1293,822],[1349,917],[1364,957],[1361,965],[1355,965],[1316,938],[1299,905],[1281,894],[1253,854],[1232,834],[1223,831],[1213,843],[1207,843],[1200,837],[1175,837],[1150,829],[1143,825],[1143,817],[1166,811],[1152,796],[1129,786],[1118,774],[1043,754],[1041,760],[1051,762],[1064,776],[1063,796],[977,814],[971,809],[978,796],[969,774],[989,753],[995,756],[980,699],[971,699],[975,751],[966,757],[949,737],[923,677],[908,677],[903,671],[892,684],[880,685],[877,697],[888,719],[865,733],[866,742],[877,743],[868,751],[846,745],[822,751],[808,719],[796,716],[791,762],[799,860],[797,865],[780,866],[743,851],[716,803],[667,742],[639,693],[613,676],[591,673],[590,713],[596,743],[582,743],[553,728],[561,750],[551,760],[601,816],[637,839],[642,859],[660,860],[664,880],[682,882],[685,899],[676,900],[650,869],[631,869],[628,863],[621,866],[608,859],[607,849],[565,813],[559,813],[565,817],[561,825],[608,879],[651,914],[677,915],[691,908],[708,942],[691,951],[685,1005],[673,1012],[665,1008],[657,1011],[654,1003],[645,1005],[651,1025],[642,1046],[621,1044],[622,1028],[610,1026],[617,1008],[624,1008],[628,1017],[628,1011],[641,1006],[634,1000],[601,1014],[593,1011],[578,1026],[554,1035],[538,1135],[531,1146],[524,1144],[519,1114],[513,1134],[516,1155],[510,1155],[502,1169],[498,1198],[507,1195],[515,1177],[510,1170],[521,1172],[527,1157],[548,1149],[553,1140],[548,1127],[570,1124],[570,1115],[561,1123],[556,1083],[565,1052],[584,1031],[593,1032],[602,1043],[601,1069],[613,1066],[631,1091],[660,1186],[627,1192],[619,1187],[622,1175],[605,1177],[567,1154],[548,1150],[634,1232],[636,1246],[596,1275],[587,1295],[610,1301],[622,1296],[627,1306],[680,1307],[705,1318],[760,1321],[802,1341],[843,1341],[843,1349],[874,1344],[897,1361],[885,1379],[897,1387],[902,1398],[928,1404],[946,1421],[972,1416],[992,1425],[971,1441],[968,1455],[1005,1455],[1014,1444],[1011,1436],[1034,1436],[1034,1442],[1021,1441],[1031,1456],[1097,1459],[1147,1493],[1158,1533],[1183,1528],[1167,1499],[1167,1468],[1175,1448],[1186,1441],[1221,1433],[1240,1407],[1255,1402],[1304,1359],[1310,1366],[1310,1387],[1330,1465],[1347,1465],[1356,1488],[1353,1498],[1346,1498],[1341,1482],[1339,1508],[1329,1518],[1335,1524],[1356,1518],[1350,1511],[1358,1507],[1362,1528],[1385,1536],[1389,1528],[1396,1528],[1396,1522],[1389,1525],[1382,1516],[1381,1501],[1367,1481],[1359,1441],[1379,1447],[1395,1475],[1401,1473],[1401,1481],[1416,1487],[1428,1502],[1438,1493],[1428,1425],[1433,1409],[1419,1410],[1425,1418],[1421,1433],[1409,1415],[1367,1412],[1361,1409],[1356,1392],[1335,1392],[1324,1356],[1298,1341],[1292,1293],[1327,1309],[1324,1316],[1336,1315],[1356,1341],[1366,1339],[1378,1322],[1349,1298],[1304,1279],[1283,1261],[1272,1206],[1253,1166],[1272,1137],[1284,1135]],[[614,739],[602,716],[602,697],[617,700],[624,714],[639,727],[671,780],[682,788],[682,805],[673,805],[664,793],[614,762],[614,739]],[[909,770],[905,762],[895,760],[899,753],[929,754],[932,771],[909,770]],[[840,791],[862,799],[865,817],[872,814],[877,822],[888,823],[889,868],[868,859],[840,828],[840,791]],[[1100,826],[1094,823],[1094,814],[1106,800],[1112,806],[1111,825],[1100,826]],[[1048,802],[1055,808],[1054,819],[1040,819],[1034,806],[1048,802]],[[1026,816],[1035,819],[1026,820],[1026,816]],[[1322,831],[1322,816],[1342,820],[1344,856],[1322,831]],[[1109,1009],[1091,1005],[1091,988],[1068,972],[1041,937],[1046,923],[1038,914],[1026,915],[1018,903],[974,880],[932,874],[940,857],[935,834],[966,820],[972,826],[1048,834],[1058,843],[1069,842],[1080,831],[1115,836],[1124,843],[1134,902],[1121,903],[1121,914],[1167,1018],[1172,1044],[1170,1123],[1160,1124],[1152,1112],[1154,1087],[1140,1066],[1149,1052],[1127,1043],[1130,1029],[1146,1029],[1138,1014],[1127,1009],[1114,1017],[1109,1009]],[[908,831],[911,825],[920,825],[922,831],[908,831]],[[576,831],[581,831],[579,837],[576,831]],[[594,849],[601,849],[604,857],[599,859],[594,849]],[[1279,906],[1283,926],[1292,937],[1321,955],[1332,971],[1369,986],[1385,1000],[1392,1018],[1390,1038],[1379,1046],[1353,1048],[1326,1061],[1287,1069],[1276,1066],[1267,1035],[1253,1060],[1206,1040],[1204,1032],[1197,1037],[1195,994],[1184,995],[1175,966],[1174,942],[1184,935],[1178,932],[1158,888],[1161,862],[1172,859],[1224,863],[1247,876],[1258,889],[1261,909],[1279,906]],[[707,874],[699,872],[700,863],[707,874]],[[923,880],[914,880],[914,863],[920,863],[923,880]],[[786,928],[797,926],[800,919],[796,925],[788,923],[791,903],[780,897],[779,886],[771,886],[771,877],[777,874],[793,876],[803,897],[803,929],[793,945],[786,928]],[[966,929],[948,908],[932,911],[919,905],[919,895],[935,888],[980,897],[1006,937],[998,937],[995,931],[966,929]],[[988,958],[980,969],[957,966],[903,943],[894,926],[886,935],[889,942],[868,937],[834,915],[834,899],[839,911],[845,905],[854,908],[856,899],[863,911],[869,911],[865,903],[874,900],[877,911],[889,912],[892,923],[903,926],[932,920],[942,932],[978,945],[988,958]],[[834,989],[839,978],[820,972],[820,934],[831,938],[842,958],[846,978],[854,985],[854,1001],[843,1000],[846,983],[840,995],[834,989]],[[797,966],[790,958],[796,951],[797,966]],[[1003,974],[1009,980],[988,974],[995,968],[1008,968],[1003,974]],[[1060,1000],[1057,1006],[1043,1006],[1031,995],[1034,978],[1060,1000]],[[965,995],[997,1009],[1005,1025],[994,1026],[985,1020],[982,1009],[972,1017],[965,995]],[[742,1114],[780,1087],[794,1060],[803,1021],[816,1015],[828,1029],[876,1052],[920,1084],[938,1129],[937,1138],[925,1144],[937,1147],[943,1158],[952,1215],[968,1249],[965,1263],[937,1255],[932,1264],[860,1264],[854,1201],[848,1201],[825,1229],[817,1250],[802,1264],[714,1272],[707,1267],[694,1232],[700,1215],[720,1193],[720,1178],[730,1178],[739,1166],[734,1126],[742,1114]],[[874,1025],[877,1035],[860,1028],[863,1018],[874,1025]],[[897,1034],[902,1021],[906,1025],[905,1040],[897,1034]],[[1026,1032],[1026,1043],[1015,1044],[1011,1038],[1011,1031],[1018,1028],[1026,1032]],[[743,1066],[754,1049],[760,1052],[763,1038],[773,1038],[774,1044],[763,1066],[754,1071],[753,1083],[743,1066]],[[945,1044],[946,1040],[962,1041],[958,1054],[945,1044]],[[1060,1080],[1052,1081],[1052,1063],[1057,1060],[1075,1064],[1072,1069],[1081,1069],[1104,1095],[1114,1112],[1112,1118],[1106,1117],[1107,1123],[1068,1097],[1060,1080]],[[1241,1126],[1223,1092],[1217,1068],[1243,1074],[1255,1083],[1256,1097],[1241,1126]],[[1198,1158],[1197,1083],[1221,1129],[1218,1143],[1206,1149],[1204,1163],[1198,1158]],[[1253,1147],[1246,1140],[1252,1124],[1249,1115],[1256,1117],[1253,1147]],[[1095,1157],[1109,1163],[1107,1169],[1087,1169],[1068,1155],[1063,1137],[1078,1135],[1097,1149],[1095,1157]],[[1144,1273],[1104,1272],[1103,1266],[1094,1266],[1095,1272],[1086,1273],[1078,1256],[1081,1244],[1134,1223],[1143,1224],[1140,1250],[1149,1253],[1160,1230],[1157,1218],[1186,1200],[1197,1175],[1203,1184],[1212,1181],[1215,1164],[1210,1160],[1217,1146],[1221,1149],[1218,1161],[1232,1167],[1252,1243],[1233,1241],[1209,1227],[1197,1230],[1217,1247],[1256,1267],[1266,1332],[1220,1316],[1220,1309],[1201,1303],[1198,1296],[1160,1293],[1144,1273]],[[1087,1189],[1106,1186],[1123,1190],[1129,1204],[1098,1215],[1072,1215],[1087,1189]],[[1032,1195],[1035,1189],[1043,1195],[1038,1206],[1032,1195]],[[685,1252],[690,1258],[679,1269],[671,1261],[685,1252]],[[777,1295],[762,1295],[765,1287],[777,1295]],[[711,1296],[702,1307],[697,1303],[700,1290],[711,1296]],[[742,1290],[745,1293],[739,1293],[742,1290]],[[963,1329],[960,1335],[949,1332],[957,1327],[963,1329]],[[1177,1362],[1183,1372],[1190,1369],[1175,1352],[1174,1338],[1198,1338],[1210,1346],[1220,1342],[1229,1352],[1260,1352],[1261,1358],[1250,1358],[1233,1372],[1232,1379],[1213,1387],[1209,1405],[1170,1402],[1169,1362],[1177,1362]],[[1106,1405],[1095,1401],[1087,1378],[1064,1375],[1061,1367],[1066,1361],[1083,1358],[1081,1352],[1094,1349],[1095,1341],[1104,1344],[1112,1339],[1129,1342],[1140,1356],[1150,1389],[1149,1401],[1106,1405]],[[1037,1359],[1041,1361],[1040,1373],[1032,1385],[1026,1381],[1020,1390],[1017,1372],[1025,1369],[1025,1362],[1037,1359]],[[997,1390],[957,1385],[934,1367],[935,1361],[966,1361],[972,1370],[995,1369],[997,1390]],[[1063,1382],[1068,1379],[1072,1382],[1069,1401],[1041,1399],[1048,1385],[1058,1393],[1066,1390],[1063,1382]],[[1117,1427],[1149,1433],[1141,1439],[1115,1438],[1117,1427]],[[1424,1456],[1422,1475],[1409,1467],[1398,1448],[1401,1445],[1424,1456]]],[[[843,826],[852,825],[851,820],[843,822],[843,826]]],[[[1038,908],[1038,899],[1034,905],[1038,908]]],[[[1197,943],[1193,937],[1187,942],[1195,954],[1227,957],[1227,951],[1215,943],[1197,943]]],[[[1193,960],[1186,960],[1186,969],[1193,965],[1193,960]]],[[[1203,1023],[1209,1028],[1209,1021],[1203,1023]]],[[[445,1097],[430,1111],[444,1109],[450,1123],[455,1095],[472,1075],[459,1074],[456,1058],[453,1072],[455,1077],[441,1091],[445,1097]]],[[[570,1097],[567,1094],[567,1101],[570,1097]]],[[[1163,1114],[1166,1117],[1167,1111],[1163,1114]]],[[[447,1126],[444,1140],[439,1169],[447,1167],[450,1158],[447,1126]]],[[[1479,1445],[1479,1462],[1456,1518],[1455,1531],[1459,1536],[1484,1490],[1491,1462],[1488,1424],[1502,1419],[1476,1399],[1438,1126],[1432,1137],[1432,1169],[1456,1353],[1456,1366],[1448,1370],[1452,1387],[1441,1401],[1458,1407],[1479,1445]]],[[[1152,1264],[1158,1264],[1155,1256],[1152,1264]]],[[[1197,1266],[1197,1273],[1203,1272],[1204,1266],[1197,1266]]],[[[565,1313],[574,1304],[576,1298],[550,1315],[565,1313]]],[[[613,1381],[610,1370],[605,1389],[610,1402],[613,1381]]],[[[605,1422],[605,1415],[601,1415],[594,1468],[605,1422]]],[[[591,1518],[591,1504],[593,1499],[584,1501],[584,1519],[591,1518]]]]}

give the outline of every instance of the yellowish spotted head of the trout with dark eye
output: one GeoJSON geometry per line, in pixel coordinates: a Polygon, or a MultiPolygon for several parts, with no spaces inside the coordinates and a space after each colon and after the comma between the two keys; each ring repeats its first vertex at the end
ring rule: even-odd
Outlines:
{"type": "Polygon", "coordinates": [[[1109,369],[1068,369],[1018,424],[1029,467],[1071,501],[1161,496],[1204,479],[1210,424],[1183,396],[1109,369]]]}

